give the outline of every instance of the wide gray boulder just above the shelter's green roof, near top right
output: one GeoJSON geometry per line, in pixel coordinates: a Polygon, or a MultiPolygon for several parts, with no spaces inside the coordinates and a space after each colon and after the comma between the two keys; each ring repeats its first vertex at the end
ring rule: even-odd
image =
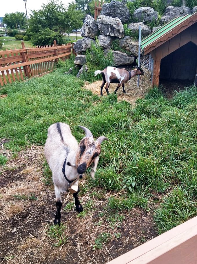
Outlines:
{"type": "Polygon", "coordinates": [[[164,15],[161,17],[161,22],[163,24],[167,23],[168,21],[172,20],[178,16],[185,16],[187,14],[192,14],[192,10],[186,6],[168,6],[165,10],[164,15]]]}

